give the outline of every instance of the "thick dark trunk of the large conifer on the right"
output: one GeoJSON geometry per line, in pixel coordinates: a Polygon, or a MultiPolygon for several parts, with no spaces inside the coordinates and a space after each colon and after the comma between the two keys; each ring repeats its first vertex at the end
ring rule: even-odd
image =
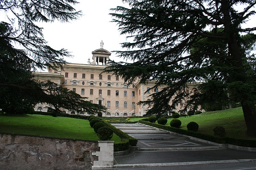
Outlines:
{"type": "MultiPolygon", "coordinates": [[[[228,51],[230,53],[231,60],[234,63],[230,63],[232,67],[235,67],[231,78],[233,82],[243,82],[246,83],[247,76],[246,72],[243,68],[243,62],[241,57],[241,51],[239,50],[239,44],[237,42],[237,37],[239,37],[239,33],[236,27],[232,24],[231,16],[229,12],[229,4],[227,0],[221,0],[221,8],[223,12],[223,21],[224,21],[224,30],[225,30],[225,38],[228,43],[228,51]],[[242,74],[241,74],[242,73],[242,74]],[[244,76],[241,76],[244,75],[244,76]]],[[[244,120],[247,127],[247,135],[256,137],[256,109],[254,106],[254,99],[249,98],[248,92],[240,93],[240,100],[244,112],[244,120]]]]}

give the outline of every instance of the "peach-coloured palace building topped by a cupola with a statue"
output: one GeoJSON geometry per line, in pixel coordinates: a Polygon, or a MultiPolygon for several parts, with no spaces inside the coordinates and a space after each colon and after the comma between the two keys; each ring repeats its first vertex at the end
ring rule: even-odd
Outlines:
{"type": "MultiPolygon", "coordinates": [[[[50,80],[63,88],[73,90],[82,97],[87,97],[88,101],[104,105],[107,112],[102,116],[124,117],[124,116],[142,116],[146,114],[149,106],[139,106],[139,101],[150,100],[149,95],[154,93],[149,91],[155,82],[149,82],[147,85],[140,84],[138,80],[134,80],[133,84],[128,86],[119,76],[112,73],[102,73],[108,66],[111,53],[103,49],[92,51],[92,62],[88,59],[87,64],[68,63],[57,72],[48,69],[48,72],[35,72],[35,79],[43,82],[50,80]]],[[[188,85],[189,90],[196,88],[196,84],[188,85]]],[[[161,89],[159,89],[161,90],[161,89]]],[[[158,92],[158,89],[156,89],[158,92]]],[[[184,101],[180,101],[177,111],[182,108],[184,101]]],[[[39,103],[35,107],[35,111],[47,112],[47,106],[39,103]]],[[[62,109],[63,113],[88,115],[88,113],[76,113],[75,111],[62,109]]]]}

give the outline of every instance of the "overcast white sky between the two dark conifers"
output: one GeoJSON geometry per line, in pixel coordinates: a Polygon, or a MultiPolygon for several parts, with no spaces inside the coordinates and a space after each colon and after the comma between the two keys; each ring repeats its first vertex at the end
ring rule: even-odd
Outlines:
{"type": "MultiPolygon", "coordinates": [[[[100,48],[100,41],[104,42],[103,48],[108,51],[122,50],[120,43],[125,42],[125,36],[121,36],[116,23],[109,13],[111,8],[124,6],[122,0],[78,0],[80,4],[75,6],[77,11],[82,10],[83,16],[70,23],[44,23],[43,34],[48,45],[54,49],[65,48],[72,52],[73,58],[66,58],[69,63],[87,64],[88,58],[92,62],[92,51],[100,48]]],[[[110,55],[111,60],[123,61],[110,55]]]]}

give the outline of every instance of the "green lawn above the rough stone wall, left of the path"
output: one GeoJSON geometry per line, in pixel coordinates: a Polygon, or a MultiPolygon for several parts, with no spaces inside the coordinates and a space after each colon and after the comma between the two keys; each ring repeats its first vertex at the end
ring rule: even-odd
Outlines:
{"type": "MultiPolygon", "coordinates": [[[[0,132],[99,140],[88,120],[45,115],[1,115],[0,132]]],[[[111,140],[121,142],[116,134],[111,140]]]]}

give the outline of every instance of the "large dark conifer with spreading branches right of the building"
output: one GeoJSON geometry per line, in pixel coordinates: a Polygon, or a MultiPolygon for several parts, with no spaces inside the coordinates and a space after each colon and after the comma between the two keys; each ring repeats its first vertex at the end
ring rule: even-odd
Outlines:
{"type": "Polygon", "coordinates": [[[187,100],[183,111],[197,109],[202,100],[219,96],[241,103],[247,132],[255,136],[255,56],[249,53],[255,43],[252,32],[256,27],[243,28],[241,24],[255,15],[256,1],[124,2],[130,8],[118,6],[111,15],[121,34],[131,41],[122,43],[128,50],[116,52],[134,63],[112,61],[107,71],[125,77],[128,83],[133,78],[143,84],[154,79],[152,90],[165,85],[151,94],[153,100],[140,102],[154,106],[148,114],[172,112],[181,99],[187,100]],[[236,11],[234,8],[241,4],[244,10],[236,11]],[[186,87],[193,82],[200,84],[188,97],[186,87]]]}

